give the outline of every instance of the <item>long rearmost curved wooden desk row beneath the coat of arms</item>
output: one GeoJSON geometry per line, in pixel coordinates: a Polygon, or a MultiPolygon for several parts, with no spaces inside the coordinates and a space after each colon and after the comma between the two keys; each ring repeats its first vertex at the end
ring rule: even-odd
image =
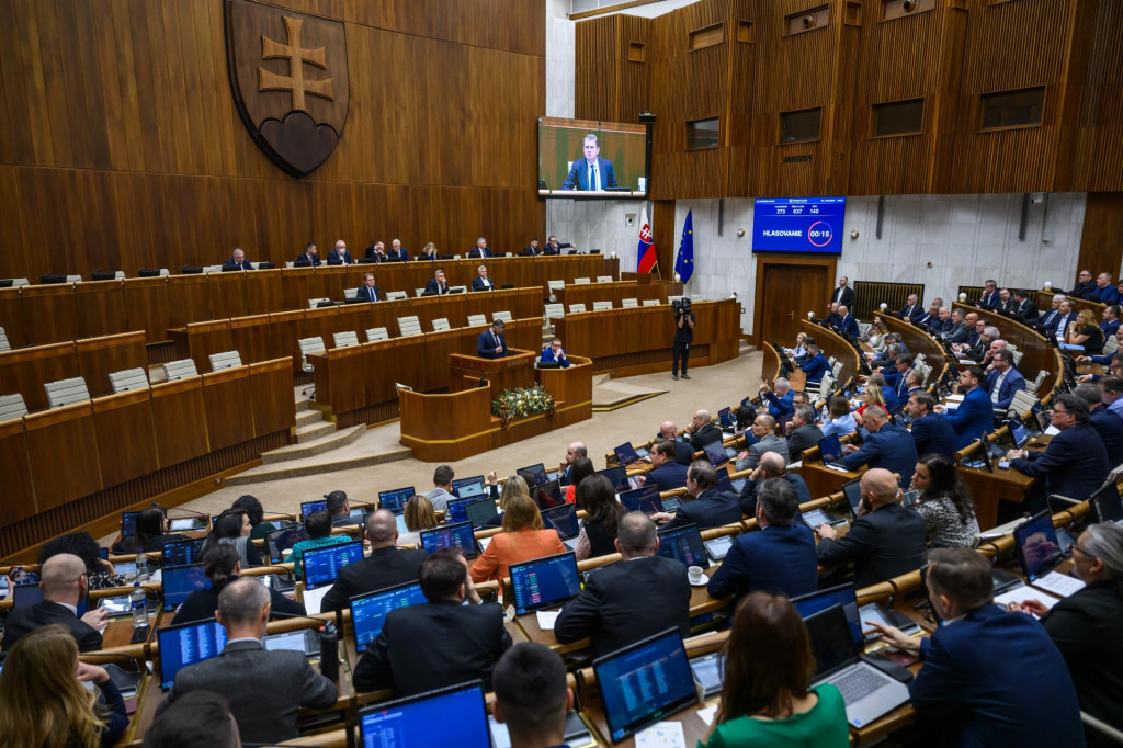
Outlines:
{"type": "MultiPolygon", "coordinates": [[[[44,345],[147,330],[148,343],[166,340],[170,328],[208,319],[229,319],[308,307],[309,299],[343,301],[367,272],[383,292],[423,288],[437,267],[449,284],[472,285],[478,259],[385,263],[349,267],[277,268],[235,273],[136,277],[0,289],[0,327],[13,347],[44,345]]],[[[484,263],[500,285],[535,286],[619,274],[620,262],[601,255],[493,257],[484,263]]]]}

